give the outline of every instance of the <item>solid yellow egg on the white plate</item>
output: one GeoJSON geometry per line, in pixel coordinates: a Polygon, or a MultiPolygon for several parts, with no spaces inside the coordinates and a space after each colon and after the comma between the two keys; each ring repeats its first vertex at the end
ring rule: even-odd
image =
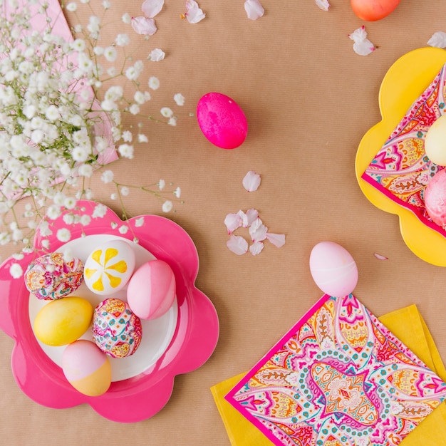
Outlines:
{"type": "Polygon", "coordinates": [[[47,346],[65,346],[80,338],[91,323],[93,306],[82,297],[51,301],[38,311],[33,330],[47,346]]]}

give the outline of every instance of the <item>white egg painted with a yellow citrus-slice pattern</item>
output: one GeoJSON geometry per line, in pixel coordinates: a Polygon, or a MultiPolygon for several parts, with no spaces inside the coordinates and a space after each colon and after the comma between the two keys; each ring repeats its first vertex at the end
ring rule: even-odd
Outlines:
{"type": "Polygon", "coordinates": [[[110,240],[85,260],[85,285],[95,294],[113,294],[127,285],[135,269],[135,253],[125,240],[110,240]]]}

